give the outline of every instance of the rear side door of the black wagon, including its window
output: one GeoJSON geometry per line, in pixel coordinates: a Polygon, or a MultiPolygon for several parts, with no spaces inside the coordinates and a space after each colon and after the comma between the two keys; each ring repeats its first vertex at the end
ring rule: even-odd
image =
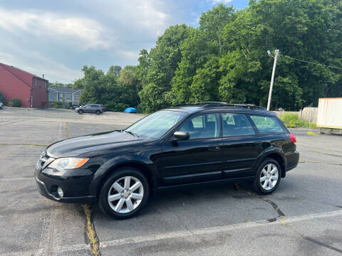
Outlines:
{"type": "Polygon", "coordinates": [[[222,113],[224,178],[253,176],[252,166],[262,151],[261,142],[245,114],[222,113]]]}

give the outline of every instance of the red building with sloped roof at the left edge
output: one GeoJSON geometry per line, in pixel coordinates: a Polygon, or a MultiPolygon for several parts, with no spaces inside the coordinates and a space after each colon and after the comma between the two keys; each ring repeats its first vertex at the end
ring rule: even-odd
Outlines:
{"type": "Polygon", "coordinates": [[[0,63],[0,92],[6,103],[17,97],[23,107],[48,106],[48,80],[3,63],[0,63]]]}

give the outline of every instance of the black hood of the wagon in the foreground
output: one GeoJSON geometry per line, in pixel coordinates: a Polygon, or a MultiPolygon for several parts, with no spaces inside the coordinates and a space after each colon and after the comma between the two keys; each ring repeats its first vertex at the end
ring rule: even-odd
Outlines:
{"type": "Polygon", "coordinates": [[[78,156],[114,146],[137,144],[144,140],[124,132],[105,132],[56,142],[47,147],[46,153],[53,158],[78,156]]]}

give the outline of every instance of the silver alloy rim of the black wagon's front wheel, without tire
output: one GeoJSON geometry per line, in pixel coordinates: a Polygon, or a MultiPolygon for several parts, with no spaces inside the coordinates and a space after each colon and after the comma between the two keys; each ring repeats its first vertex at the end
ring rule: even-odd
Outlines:
{"type": "Polygon", "coordinates": [[[116,213],[130,213],[144,197],[141,181],[133,176],[124,176],[113,183],[108,191],[108,203],[116,213]]]}

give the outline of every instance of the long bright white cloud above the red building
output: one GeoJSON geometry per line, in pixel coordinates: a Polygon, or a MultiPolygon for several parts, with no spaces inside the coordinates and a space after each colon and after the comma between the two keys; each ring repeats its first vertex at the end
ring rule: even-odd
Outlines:
{"type": "Polygon", "coordinates": [[[25,31],[35,36],[48,36],[83,50],[109,47],[108,40],[103,36],[103,27],[90,18],[48,11],[8,11],[0,8],[0,27],[16,35],[25,31]]]}

